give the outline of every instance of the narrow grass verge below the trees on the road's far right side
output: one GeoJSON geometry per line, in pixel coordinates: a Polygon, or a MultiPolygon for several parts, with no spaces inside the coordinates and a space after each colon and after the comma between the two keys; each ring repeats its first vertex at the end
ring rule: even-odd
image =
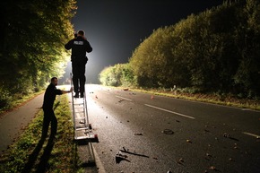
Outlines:
{"type": "MultiPolygon", "coordinates": [[[[110,87],[110,86],[109,86],[110,87]]],[[[139,91],[144,93],[149,93],[153,96],[167,96],[176,99],[189,99],[195,101],[202,101],[212,104],[218,104],[229,107],[237,108],[249,108],[254,110],[260,110],[260,100],[259,99],[239,99],[232,95],[221,95],[218,93],[189,93],[182,91],[167,91],[160,89],[136,89],[136,88],[124,88],[124,87],[110,87],[110,88],[119,88],[126,91],[139,91]]]]}

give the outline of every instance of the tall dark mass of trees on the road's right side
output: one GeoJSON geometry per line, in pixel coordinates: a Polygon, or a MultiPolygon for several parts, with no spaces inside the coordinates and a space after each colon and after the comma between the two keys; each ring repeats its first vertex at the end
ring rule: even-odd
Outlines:
{"type": "Polygon", "coordinates": [[[137,87],[176,85],[259,97],[260,3],[227,1],[154,30],[134,50],[129,65],[133,74],[128,76],[137,87]]]}

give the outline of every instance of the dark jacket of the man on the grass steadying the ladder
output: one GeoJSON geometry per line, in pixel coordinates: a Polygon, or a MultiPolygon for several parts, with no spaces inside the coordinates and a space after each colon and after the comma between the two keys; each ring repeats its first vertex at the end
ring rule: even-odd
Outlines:
{"type": "Polygon", "coordinates": [[[56,89],[56,86],[52,83],[48,85],[48,88],[45,91],[44,99],[43,99],[43,106],[44,109],[52,109],[54,101],[56,99],[56,95],[61,95],[62,91],[56,89]]]}

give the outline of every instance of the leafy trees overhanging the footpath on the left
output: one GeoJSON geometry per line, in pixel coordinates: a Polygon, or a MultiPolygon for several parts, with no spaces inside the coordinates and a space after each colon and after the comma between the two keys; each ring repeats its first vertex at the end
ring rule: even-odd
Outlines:
{"type": "Polygon", "coordinates": [[[0,108],[15,94],[37,91],[64,73],[75,9],[75,0],[1,1],[0,108]]]}

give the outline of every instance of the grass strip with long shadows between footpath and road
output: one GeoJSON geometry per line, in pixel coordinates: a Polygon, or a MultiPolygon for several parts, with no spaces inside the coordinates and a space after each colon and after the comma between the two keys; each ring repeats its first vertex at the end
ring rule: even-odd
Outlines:
{"type": "Polygon", "coordinates": [[[42,145],[39,142],[43,121],[40,109],[22,135],[1,155],[0,172],[74,172],[77,155],[71,110],[67,96],[58,97],[54,106],[58,121],[54,145],[49,144],[48,138],[42,145]]]}

